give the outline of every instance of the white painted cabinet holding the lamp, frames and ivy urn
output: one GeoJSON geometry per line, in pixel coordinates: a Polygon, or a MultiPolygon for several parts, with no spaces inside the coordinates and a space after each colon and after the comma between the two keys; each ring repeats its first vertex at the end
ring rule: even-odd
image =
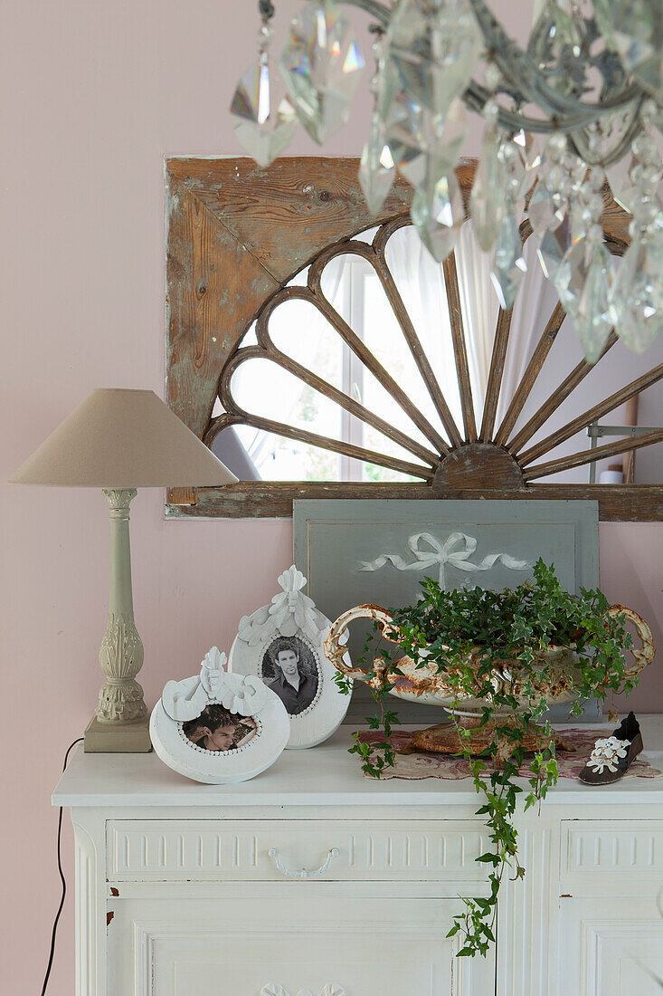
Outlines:
{"type": "MultiPolygon", "coordinates": [[[[643,728],[663,747],[663,721],[643,728]]],[[[341,728],[228,787],[77,753],[54,796],[77,996],[658,996],[663,779],[564,781],[521,816],[497,951],[458,959],[458,896],[486,894],[471,781],[375,783],[346,748],[341,728]]]]}

